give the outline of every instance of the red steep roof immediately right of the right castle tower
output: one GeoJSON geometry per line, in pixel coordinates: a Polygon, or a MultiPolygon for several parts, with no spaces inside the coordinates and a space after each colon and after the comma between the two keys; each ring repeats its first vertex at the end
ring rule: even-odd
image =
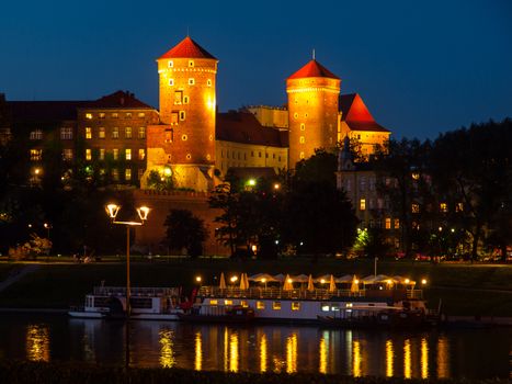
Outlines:
{"type": "Polygon", "coordinates": [[[344,121],[352,131],[389,132],[375,122],[357,93],[340,95],[341,120],[344,121]]]}

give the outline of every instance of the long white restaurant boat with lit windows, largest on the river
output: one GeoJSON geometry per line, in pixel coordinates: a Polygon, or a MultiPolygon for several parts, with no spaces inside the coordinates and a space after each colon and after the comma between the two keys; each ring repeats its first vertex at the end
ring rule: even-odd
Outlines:
{"type": "MultiPolygon", "coordinates": [[[[261,285],[261,284],[258,284],[261,285]]],[[[297,284],[296,284],[297,285],[297,284]]],[[[344,289],[293,286],[201,286],[194,305],[254,310],[255,321],[309,323],[339,327],[434,325],[436,310],[426,308],[422,291],[413,284],[375,282],[344,289]]],[[[202,309],[203,310],[203,309],[202,309]]],[[[207,310],[207,309],[204,309],[207,310]]]]}

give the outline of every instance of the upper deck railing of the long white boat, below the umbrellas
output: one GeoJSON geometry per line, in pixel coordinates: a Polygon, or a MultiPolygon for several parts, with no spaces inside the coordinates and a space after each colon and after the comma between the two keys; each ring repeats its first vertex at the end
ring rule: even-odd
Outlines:
{"type": "Polygon", "coordinates": [[[312,291],[297,289],[283,290],[282,287],[249,287],[240,290],[239,287],[228,286],[220,289],[217,286],[202,286],[198,292],[204,297],[237,297],[237,298],[289,298],[289,300],[330,300],[332,297],[364,297],[365,291],[351,290],[315,289],[312,291]]]}

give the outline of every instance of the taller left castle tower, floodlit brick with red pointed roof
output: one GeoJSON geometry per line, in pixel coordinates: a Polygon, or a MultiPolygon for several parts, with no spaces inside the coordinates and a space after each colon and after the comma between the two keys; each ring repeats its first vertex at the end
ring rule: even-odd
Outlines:
{"type": "Polygon", "coordinates": [[[215,167],[218,60],[186,36],[157,63],[160,125],[148,127],[148,169],[166,167],[175,187],[207,191],[215,167]]]}

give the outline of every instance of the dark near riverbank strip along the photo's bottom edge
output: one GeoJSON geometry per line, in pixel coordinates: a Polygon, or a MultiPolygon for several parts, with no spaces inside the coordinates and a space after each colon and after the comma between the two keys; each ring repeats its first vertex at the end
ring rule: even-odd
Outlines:
{"type": "Polygon", "coordinates": [[[330,374],[308,373],[230,373],[191,371],[182,369],[123,369],[109,365],[92,365],[79,363],[45,363],[45,362],[11,362],[0,360],[0,377],[10,384],[159,384],[159,383],[209,383],[209,384],[395,384],[395,383],[446,383],[446,384],[501,384],[508,379],[487,380],[433,380],[401,377],[352,377],[330,374]]]}

